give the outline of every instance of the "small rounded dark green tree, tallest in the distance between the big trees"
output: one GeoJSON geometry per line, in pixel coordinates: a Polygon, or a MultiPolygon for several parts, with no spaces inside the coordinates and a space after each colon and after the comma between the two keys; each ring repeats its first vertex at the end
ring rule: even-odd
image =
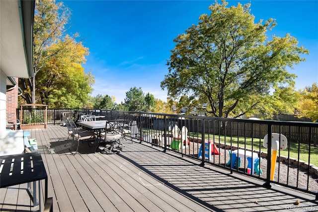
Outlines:
{"type": "Polygon", "coordinates": [[[126,92],[125,105],[129,111],[146,111],[145,94],[141,87],[135,86],[126,92]]]}

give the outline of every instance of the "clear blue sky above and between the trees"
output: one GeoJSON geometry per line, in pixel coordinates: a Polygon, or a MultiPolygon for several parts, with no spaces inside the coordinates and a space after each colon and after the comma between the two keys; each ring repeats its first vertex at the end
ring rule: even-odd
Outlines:
{"type": "MultiPolygon", "coordinates": [[[[95,76],[92,96],[108,94],[124,102],[131,87],[141,87],[166,101],[160,82],[168,73],[166,60],[178,34],[197,24],[199,16],[210,14],[214,0],[62,0],[71,10],[68,33],[79,33],[89,48],[83,65],[95,76]]],[[[219,1],[221,2],[221,1],[219,1]]],[[[317,0],[230,0],[230,5],[251,2],[255,22],[275,18],[277,26],[267,33],[296,37],[310,55],[290,72],[298,75],[297,89],[318,82],[317,0]]]]}

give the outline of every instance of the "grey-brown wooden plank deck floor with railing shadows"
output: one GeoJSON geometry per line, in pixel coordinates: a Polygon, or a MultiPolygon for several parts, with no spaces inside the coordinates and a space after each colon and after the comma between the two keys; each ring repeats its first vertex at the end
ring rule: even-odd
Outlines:
{"type": "MultiPolygon", "coordinates": [[[[312,196],[266,189],[263,182],[192,161],[147,143],[124,141],[119,154],[92,153],[80,143],[69,151],[67,128],[32,129],[49,176],[48,197],[55,212],[203,212],[271,211],[302,205],[316,207],[312,196]]],[[[26,184],[0,189],[0,211],[37,211],[26,184]]],[[[44,181],[42,182],[42,193],[44,181]]],[[[42,206],[43,195],[41,198],[42,206]]]]}

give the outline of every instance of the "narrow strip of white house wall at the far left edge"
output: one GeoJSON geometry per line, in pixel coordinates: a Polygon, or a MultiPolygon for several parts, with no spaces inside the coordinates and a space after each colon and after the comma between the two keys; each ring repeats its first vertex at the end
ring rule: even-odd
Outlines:
{"type": "Polygon", "coordinates": [[[0,131],[6,127],[6,75],[0,71],[0,131]]]}

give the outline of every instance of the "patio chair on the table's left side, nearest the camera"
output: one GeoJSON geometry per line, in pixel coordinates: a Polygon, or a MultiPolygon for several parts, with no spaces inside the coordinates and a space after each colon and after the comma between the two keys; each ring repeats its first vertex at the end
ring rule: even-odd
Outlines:
{"type": "Polygon", "coordinates": [[[71,129],[72,129],[72,138],[73,138],[72,144],[71,144],[71,147],[70,147],[70,151],[71,151],[71,149],[72,149],[72,147],[74,145],[74,142],[78,141],[78,146],[76,148],[76,151],[75,151],[74,155],[79,150],[79,142],[80,141],[85,141],[85,140],[88,141],[88,146],[89,146],[89,143],[90,143],[89,140],[94,139],[94,143],[96,143],[97,136],[95,135],[94,132],[80,131],[73,121],[70,121],[69,123],[70,123],[71,129]]]}

